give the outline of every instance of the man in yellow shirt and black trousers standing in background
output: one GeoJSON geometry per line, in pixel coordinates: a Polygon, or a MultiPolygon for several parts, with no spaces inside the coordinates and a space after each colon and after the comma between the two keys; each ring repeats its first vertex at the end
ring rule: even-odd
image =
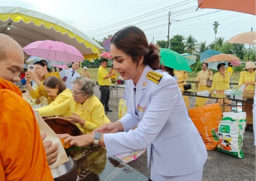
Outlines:
{"type": "Polygon", "coordinates": [[[107,72],[107,59],[103,58],[98,70],[98,83],[100,91],[100,102],[103,104],[106,112],[112,112],[108,107],[110,101],[110,77],[115,75],[115,72],[107,72]]]}

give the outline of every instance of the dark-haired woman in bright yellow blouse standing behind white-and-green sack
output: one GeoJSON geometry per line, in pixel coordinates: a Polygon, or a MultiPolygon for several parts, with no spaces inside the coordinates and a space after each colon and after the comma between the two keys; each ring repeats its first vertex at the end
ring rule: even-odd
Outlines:
{"type": "MultiPolygon", "coordinates": [[[[217,65],[217,69],[219,72],[217,72],[214,76],[213,76],[213,81],[212,81],[212,88],[211,88],[211,93],[212,91],[216,90],[216,94],[213,95],[214,97],[225,97],[224,91],[226,89],[230,89],[229,87],[229,82],[230,82],[230,76],[228,74],[228,72],[226,72],[226,67],[225,67],[225,63],[219,63],[217,65]]],[[[224,100],[226,104],[230,104],[229,100],[224,100]]],[[[221,111],[222,112],[230,112],[230,107],[229,106],[225,106],[225,109],[223,109],[223,99],[219,99],[218,100],[220,107],[221,107],[221,111]]]]}

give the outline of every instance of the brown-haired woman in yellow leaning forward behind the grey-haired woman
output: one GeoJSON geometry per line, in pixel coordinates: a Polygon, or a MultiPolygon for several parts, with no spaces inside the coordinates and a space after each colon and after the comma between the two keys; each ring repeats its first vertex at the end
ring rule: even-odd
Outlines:
{"type": "MultiPolygon", "coordinates": [[[[72,97],[72,92],[70,89],[67,89],[64,82],[56,76],[47,77],[44,80],[43,85],[45,91],[48,93],[48,96],[54,101],[48,106],[37,109],[37,111],[48,111],[49,109],[52,109],[52,107],[57,106],[72,97]]],[[[58,116],[65,117],[67,115],[72,115],[70,110],[58,116]]]]}

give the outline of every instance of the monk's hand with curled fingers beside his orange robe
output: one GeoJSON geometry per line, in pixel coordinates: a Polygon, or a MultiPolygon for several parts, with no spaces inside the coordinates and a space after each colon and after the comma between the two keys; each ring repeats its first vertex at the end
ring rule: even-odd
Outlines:
{"type": "MultiPolygon", "coordinates": [[[[42,140],[44,141],[46,137],[46,133],[43,133],[43,135],[41,135],[42,140]]],[[[58,156],[58,144],[52,144],[52,141],[44,141],[44,149],[45,149],[45,153],[46,153],[46,157],[47,157],[47,162],[48,165],[52,165],[52,163],[57,161],[57,156],[58,156]]]]}

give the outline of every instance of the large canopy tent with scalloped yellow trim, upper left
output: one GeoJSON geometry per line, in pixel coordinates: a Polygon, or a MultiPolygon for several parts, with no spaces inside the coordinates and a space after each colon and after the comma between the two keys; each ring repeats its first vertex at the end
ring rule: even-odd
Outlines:
{"type": "Polygon", "coordinates": [[[22,7],[0,6],[0,33],[14,38],[22,47],[40,40],[61,41],[77,48],[88,60],[99,58],[98,55],[104,50],[71,25],[22,7]]]}

